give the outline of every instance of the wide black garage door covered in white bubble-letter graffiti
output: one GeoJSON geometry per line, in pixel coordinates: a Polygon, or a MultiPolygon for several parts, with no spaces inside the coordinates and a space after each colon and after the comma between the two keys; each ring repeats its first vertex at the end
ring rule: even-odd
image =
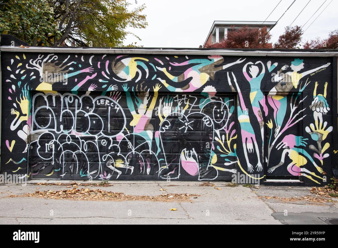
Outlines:
{"type": "Polygon", "coordinates": [[[35,93],[32,178],[231,180],[234,95],[35,93]]]}

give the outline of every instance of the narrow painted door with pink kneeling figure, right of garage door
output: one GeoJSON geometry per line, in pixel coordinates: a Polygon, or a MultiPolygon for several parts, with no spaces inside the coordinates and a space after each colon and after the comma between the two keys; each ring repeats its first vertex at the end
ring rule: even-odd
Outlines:
{"type": "Polygon", "coordinates": [[[280,92],[265,97],[268,113],[264,137],[267,179],[298,179],[301,165],[306,161],[301,155],[303,137],[294,135],[302,132],[301,94],[280,92]]]}

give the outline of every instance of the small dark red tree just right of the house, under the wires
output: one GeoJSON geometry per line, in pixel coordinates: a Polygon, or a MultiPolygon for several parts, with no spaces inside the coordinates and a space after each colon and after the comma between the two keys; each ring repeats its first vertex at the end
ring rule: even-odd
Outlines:
{"type": "Polygon", "coordinates": [[[301,36],[303,31],[300,26],[285,27],[285,31],[278,38],[278,41],[273,45],[273,48],[279,49],[296,49],[300,46],[301,36]],[[298,47],[297,47],[298,46],[298,47]]]}

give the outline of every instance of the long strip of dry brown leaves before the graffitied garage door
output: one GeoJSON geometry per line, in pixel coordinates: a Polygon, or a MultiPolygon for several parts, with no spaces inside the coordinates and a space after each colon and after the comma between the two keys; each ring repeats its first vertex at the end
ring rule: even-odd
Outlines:
{"type": "MultiPolygon", "coordinates": [[[[125,195],[123,192],[111,192],[102,189],[89,189],[89,188],[73,188],[59,191],[35,191],[23,196],[33,196],[45,199],[71,199],[71,200],[113,200],[113,201],[189,201],[190,197],[197,198],[197,194],[162,194],[158,196],[148,195],[125,195]]],[[[11,196],[15,197],[15,196],[11,196]]]]}

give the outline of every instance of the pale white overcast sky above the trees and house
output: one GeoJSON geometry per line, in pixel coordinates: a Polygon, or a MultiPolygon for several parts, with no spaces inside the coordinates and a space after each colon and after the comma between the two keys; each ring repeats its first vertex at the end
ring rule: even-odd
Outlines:
{"type": "MultiPolygon", "coordinates": [[[[134,2],[134,0],[129,0],[134,2]]],[[[124,44],[137,42],[144,47],[198,48],[207,38],[213,21],[264,21],[280,0],[138,0],[145,3],[144,14],[148,26],[145,29],[128,29],[142,40],[128,35],[124,44]]],[[[267,21],[277,21],[293,0],[282,0],[267,21]]],[[[271,30],[272,43],[292,23],[309,0],[296,0],[282,19],[271,30]]],[[[292,24],[303,26],[325,0],[311,0],[292,24]]],[[[327,0],[304,26],[305,30],[319,13],[331,2],[327,0]]],[[[304,33],[303,42],[314,38],[326,38],[338,28],[338,0],[333,0],[317,20],[304,33]]]]}

